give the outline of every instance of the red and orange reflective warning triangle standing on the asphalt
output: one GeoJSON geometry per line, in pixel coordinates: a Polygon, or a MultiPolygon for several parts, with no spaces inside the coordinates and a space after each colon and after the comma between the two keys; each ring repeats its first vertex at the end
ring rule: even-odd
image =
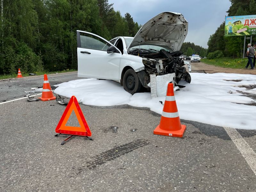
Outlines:
{"type": "Polygon", "coordinates": [[[60,121],[55,129],[56,133],[79,135],[79,136],[91,136],[91,130],[84,118],[84,114],[79,106],[79,103],[75,96],[72,96],[68,102],[68,105],[60,118],[60,121]],[[80,127],[66,126],[68,119],[74,110],[80,127]]]}

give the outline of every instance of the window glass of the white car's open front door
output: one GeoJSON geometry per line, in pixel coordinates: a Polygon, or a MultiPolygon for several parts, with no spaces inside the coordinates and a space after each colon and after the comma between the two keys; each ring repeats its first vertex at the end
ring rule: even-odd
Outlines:
{"type": "Polygon", "coordinates": [[[108,47],[110,47],[110,44],[104,40],[86,33],[80,33],[80,42],[81,47],[85,49],[107,51],[108,47]]]}

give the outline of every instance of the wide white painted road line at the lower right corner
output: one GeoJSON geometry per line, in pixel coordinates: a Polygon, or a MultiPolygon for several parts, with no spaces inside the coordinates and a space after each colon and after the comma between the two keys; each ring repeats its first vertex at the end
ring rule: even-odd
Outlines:
{"type": "Polygon", "coordinates": [[[229,137],[235,143],[238,150],[244,156],[245,160],[251,167],[252,171],[256,175],[256,154],[252,150],[252,148],[248,145],[248,143],[244,140],[244,138],[236,131],[234,128],[224,127],[229,137]]]}

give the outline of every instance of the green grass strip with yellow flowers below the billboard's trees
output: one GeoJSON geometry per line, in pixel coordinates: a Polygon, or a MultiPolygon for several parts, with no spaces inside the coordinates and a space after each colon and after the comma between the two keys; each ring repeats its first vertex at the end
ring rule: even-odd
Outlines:
{"type": "Polygon", "coordinates": [[[248,59],[233,59],[233,58],[220,58],[220,59],[202,59],[201,62],[224,68],[243,69],[248,59]]]}

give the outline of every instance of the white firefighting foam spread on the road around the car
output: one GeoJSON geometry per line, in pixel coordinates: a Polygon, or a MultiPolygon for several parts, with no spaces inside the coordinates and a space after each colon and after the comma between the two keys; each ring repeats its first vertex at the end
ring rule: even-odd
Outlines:
{"type": "MultiPolygon", "coordinates": [[[[240,92],[256,95],[255,75],[227,73],[190,73],[191,84],[176,91],[175,99],[181,119],[237,129],[256,129],[256,106],[244,105],[256,102],[240,92]],[[236,80],[236,81],[232,81],[236,80]]],[[[50,82],[51,83],[51,82],[50,82]]],[[[110,80],[79,79],[59,84],[55,93],[71,97],[86,105],[113,106],[128,104],[148,107],[162,114],[165,97],[151,100],[150,92],[131,95],[119,83],[110,80]]]]}

